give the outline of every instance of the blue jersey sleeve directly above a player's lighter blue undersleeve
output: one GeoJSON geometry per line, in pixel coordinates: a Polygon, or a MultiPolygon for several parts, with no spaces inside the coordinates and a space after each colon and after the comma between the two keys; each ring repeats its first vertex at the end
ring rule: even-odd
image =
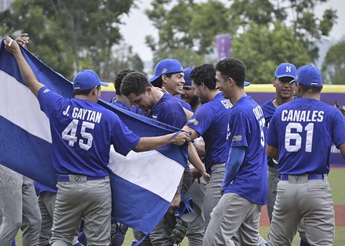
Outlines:
{"type": "Polygon", "coordinates": [[[248,147],[251,130],[249,119],[245,114],[236,112],[230,115],[229,131],[230,147],[248,147]]]}

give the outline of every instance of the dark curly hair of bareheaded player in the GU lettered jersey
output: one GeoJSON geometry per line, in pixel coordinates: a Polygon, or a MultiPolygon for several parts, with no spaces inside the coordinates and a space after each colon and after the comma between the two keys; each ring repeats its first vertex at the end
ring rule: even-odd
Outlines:
{"type": "Polygon", "coordinates": [[[210,63],[195,67],[190,73],[190,79],[192,79],[197,86],[204,83],[211,91],[216,89],[216,69],[210,63]]]}

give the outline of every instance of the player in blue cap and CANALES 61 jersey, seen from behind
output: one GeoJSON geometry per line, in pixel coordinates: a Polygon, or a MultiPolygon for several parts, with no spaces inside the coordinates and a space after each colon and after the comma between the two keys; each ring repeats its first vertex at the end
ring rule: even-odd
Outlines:
{"type": "Polygon", "coordinates": [[[267,135],[267,155],[278,159],[280,173],[270,242],[291,245],[303,219],[310,245],[333,246],[329,155],[333,142],[345,157],[345,119],[338,109],[320,101],[318,68],[300,67],[294,82],[298,99],[276,109],[267,135]]]}

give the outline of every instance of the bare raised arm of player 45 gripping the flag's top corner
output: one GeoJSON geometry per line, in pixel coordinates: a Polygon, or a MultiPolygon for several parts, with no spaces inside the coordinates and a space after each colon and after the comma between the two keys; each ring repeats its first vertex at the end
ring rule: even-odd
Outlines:
{"type": "Polygon", "coordinates": [[[13,54],[14,58],[18,63],[20,74],[23,77],[26,85],[32,91],[32,93],[37,97],[38,91],[44,87],[43,84],[38,82],[34,72],[25,60],[23,54],[21,53],[20,47],[16,41],[10,37],[6,37],[3,41],[5,44],[5,49],[13,54]]]}

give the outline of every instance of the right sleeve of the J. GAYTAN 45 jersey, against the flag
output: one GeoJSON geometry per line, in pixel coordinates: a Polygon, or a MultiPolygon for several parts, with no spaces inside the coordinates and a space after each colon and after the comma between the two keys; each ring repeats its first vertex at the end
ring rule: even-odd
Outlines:
{"type": "Polygon", "coordinates": [[[111,144],[113,144],[116,152],[126,156],[140,141],[140,137],[130,131],[117,115],[112,115],[113,127],[111,144]]]}

